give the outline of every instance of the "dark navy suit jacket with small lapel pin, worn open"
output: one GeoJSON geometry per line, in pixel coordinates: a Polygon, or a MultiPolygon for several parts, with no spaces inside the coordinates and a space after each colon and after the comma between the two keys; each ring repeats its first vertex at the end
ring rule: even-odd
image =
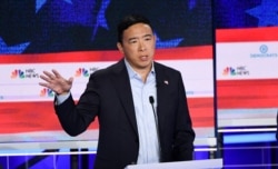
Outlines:
{"type": "MultiPolygon", "coordinates": [[[[180,72],[155,62],[161,161],[191,160],[195,132],[180,72]]],[[[91,74],[75,106],[72,97],[56,106],[70,136],[83,132],[98,116],[95,169],[122,169],[136,163],[139,138],[131,87],[123,59],[91,74]]],[[[155,122],[155,121],[153,121],[155,122]]]]}

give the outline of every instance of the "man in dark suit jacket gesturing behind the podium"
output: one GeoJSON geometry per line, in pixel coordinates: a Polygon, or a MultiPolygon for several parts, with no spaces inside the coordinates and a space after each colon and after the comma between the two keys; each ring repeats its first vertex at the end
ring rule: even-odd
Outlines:
{"type": "Polygon", "coordinates": [[[43,71],[41,86],[57,93],[56,112],[70,136],[99,119],[95,169],[132,163],[192,160],[195,132],[179,71],[153,61],[156,37],[149,20],[128,16],[118,26],[123,59],[96,71],[79,102],[72,78],[43,71]]]}

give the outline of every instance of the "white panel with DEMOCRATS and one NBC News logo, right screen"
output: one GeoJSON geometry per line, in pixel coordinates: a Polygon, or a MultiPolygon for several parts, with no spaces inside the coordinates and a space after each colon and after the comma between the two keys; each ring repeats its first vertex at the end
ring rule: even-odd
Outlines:
{"type": "Polygon", "coordinates": [[[278,42],[217,43],[217,79],[278,78],[278,42]]]}

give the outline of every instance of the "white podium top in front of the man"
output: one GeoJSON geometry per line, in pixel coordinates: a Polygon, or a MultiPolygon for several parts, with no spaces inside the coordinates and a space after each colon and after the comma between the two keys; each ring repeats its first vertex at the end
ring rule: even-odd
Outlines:
{"type": "Polygon", "coordinates": [[[125,169],[221,169],[222,159],[129,165],[125,169]]]}

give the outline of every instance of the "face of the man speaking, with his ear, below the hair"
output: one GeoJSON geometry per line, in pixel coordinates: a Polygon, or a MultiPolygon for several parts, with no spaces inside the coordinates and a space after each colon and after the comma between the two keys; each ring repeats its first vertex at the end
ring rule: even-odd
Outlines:
{"type": "Polygon", "coordinates": [[[117,47],[136,71],[151,69],[156,37],[148,24],[137,23],[126,29],[122,43],[118,42],[117,47]]]}

